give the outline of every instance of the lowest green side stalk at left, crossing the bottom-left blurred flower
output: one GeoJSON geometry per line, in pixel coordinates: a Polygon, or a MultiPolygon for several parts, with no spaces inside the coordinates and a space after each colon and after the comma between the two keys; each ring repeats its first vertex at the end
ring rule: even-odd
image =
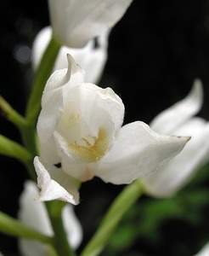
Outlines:
{"type": "Polygon", "coordinates": [[[10,236],[41,241],[49,245],[53,244],[53,237],[45,236],[3,212],[0,212],[0,231],[10,236]]]}

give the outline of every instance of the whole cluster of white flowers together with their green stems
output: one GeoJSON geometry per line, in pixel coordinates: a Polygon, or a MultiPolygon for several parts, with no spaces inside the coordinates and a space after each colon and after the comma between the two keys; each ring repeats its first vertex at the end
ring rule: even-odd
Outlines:
{"type": "MultiPolygon", "coordinates": [[[[0,135],[0,154],[20,160],[31,177],[18,219],[0,212],[0,231],[19,237],[22,255],[74,255],[84,234],[74,206],[81,184],[93,177],[127,186],[82,256],[99,255],[140,195],[171,197],[209,162],[209,123],[195,116],[203,104],[201,79],[150,125],[123,124],[121,97],[110,84],[96,85],[111,29],[132,1],[48,0],[50,25],[32,44],[35,79],[25,116],[0,97],[22,137],[21,145],[0,135]]],[[[208,252],[206,244],[196,256],[208,252]]]]}

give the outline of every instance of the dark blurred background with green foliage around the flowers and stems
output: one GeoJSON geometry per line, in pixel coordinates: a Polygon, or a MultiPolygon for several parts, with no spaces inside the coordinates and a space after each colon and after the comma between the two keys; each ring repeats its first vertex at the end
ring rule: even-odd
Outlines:
{"type": "MultiPolygon", "coordinates": [[[[33,78],[31,45],[48,24],[47,1],[0,1],[1,95],[20,113],[25,112],[33,78]]],[[[121,96],[125,123],[138,119],[150,123],[184,98],[195,78],[202,80],[205,91],[200,116],[209,119],[209,1],[133,0],[110,33],[109,59],[99,82],[121,96]]],[[[18,131],[3,117],[0,132],[20,142],[18,131]]],[[[27,172],[16,160],[4,156],[0,160],[0,210],[15,217],[27,172]]],[[[206,166],[170,200],[143,196],[102,255],[194,255],[209,241],[208,184],[206,166]]],[[[82,203],[76,207],[84,229],[82,247],[122,188],[98,178],[82,185],[82,203]]],[[[0,251],[19,255],[16,240],[1,233],[0,251]]]]}

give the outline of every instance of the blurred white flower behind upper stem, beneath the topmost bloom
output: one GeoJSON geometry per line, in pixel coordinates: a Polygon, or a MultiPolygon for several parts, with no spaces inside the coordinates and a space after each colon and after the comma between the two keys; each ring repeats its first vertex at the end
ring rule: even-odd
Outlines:
{"type": "MultiPolygon", "coordinates": [[[[67,67],[68,63],[66,55],[69,53],[73,56],[76,62],[85,70],[85,82],[98,82],[101,74],[103,73],[104,65],[107,60],[108,35],[109,32],[104,32],[104,34],[97,38],[96,47],[94,45],[94,39],[88,41],[88,44],[80,49],[62,46],[59,50],[59,55],[57,56],[57,59],[54,63],[54,70],[59,70],[67,67]]],[[[37,66],[42,59],[42,55],[47,48],[51,37],[51,26],[46,26],[37,33],[37,37],[33,42],[31,51],[31,61],[34,70],[37,69],[37,66]]]]}

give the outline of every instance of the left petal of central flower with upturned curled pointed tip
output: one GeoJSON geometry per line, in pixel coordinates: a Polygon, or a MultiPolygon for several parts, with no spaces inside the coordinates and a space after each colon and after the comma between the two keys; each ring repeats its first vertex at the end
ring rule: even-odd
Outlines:
{"type": "Polygon", "coordinates": [[[43,91],[42,111],[37,121],[37,133],[41,143],[47,142],[52,137],[52,133],[58,125],[65,104],[66,90],[83,82],[81,67],[76,64],[71,55],[67,55],[67,58],[68,70],[61,69],[54,72],[43,91]]]}

